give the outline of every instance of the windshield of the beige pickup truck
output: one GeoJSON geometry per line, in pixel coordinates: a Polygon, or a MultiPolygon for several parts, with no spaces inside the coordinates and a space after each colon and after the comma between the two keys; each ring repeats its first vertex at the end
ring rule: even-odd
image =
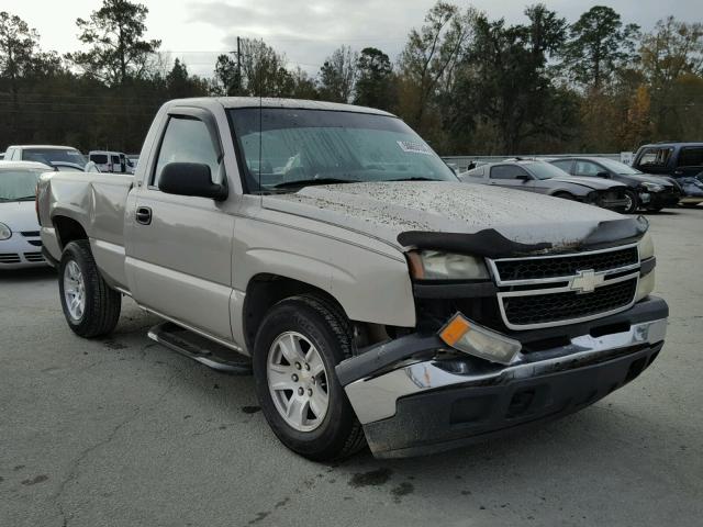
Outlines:
{"type": "Polygon", "coordinates": [[[232,110],[231,116],[250,192],[293,192],[333,182],[457,180],[395,117],[271,108],[232,110]]]}

